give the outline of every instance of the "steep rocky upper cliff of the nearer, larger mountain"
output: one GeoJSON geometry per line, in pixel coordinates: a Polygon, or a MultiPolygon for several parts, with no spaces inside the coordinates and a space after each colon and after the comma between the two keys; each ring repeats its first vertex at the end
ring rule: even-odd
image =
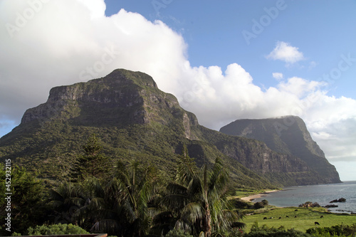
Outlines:
{"type": "Polygon", "coordinates": [[[162,93],[149,75],[115,70],[105,78],[51,89],[47,102],[27,110],[21,124],[56,119],[117,127],[152,121],[168,124],[172,116],[167,110],[181,109],[177,99],[162,93]]]}

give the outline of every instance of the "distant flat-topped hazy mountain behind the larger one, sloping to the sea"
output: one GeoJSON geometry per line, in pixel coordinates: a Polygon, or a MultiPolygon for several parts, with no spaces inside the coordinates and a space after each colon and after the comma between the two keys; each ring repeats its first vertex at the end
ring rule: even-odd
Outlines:
{"type": "Polygon", "coordinates": [[[327,183],[340,182],[335,167],[313,141],[305,122],[298,116],[285,116],[263,120],[236,120],[221,127],[220,132],[258,139],[273,151],[290,154],[305,164],[327,183]]]}

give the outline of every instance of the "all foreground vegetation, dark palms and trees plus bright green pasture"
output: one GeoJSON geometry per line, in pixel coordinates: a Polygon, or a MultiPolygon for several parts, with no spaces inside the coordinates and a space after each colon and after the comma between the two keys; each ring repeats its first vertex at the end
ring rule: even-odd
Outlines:
{"type": "MultiPolygon", "coordinates": [[[[102,148],[92,135],[82,146],[78,167],[90,167],[88,157],[100,157],[102,148]]],[[[330,229],[350,236],[355,231],[355,215],[331,214],[321,207],[276,208],[266,200],[242,201],[234,195],[256,191],[229,189],[229,170],[221,159],[198,167],[185,146],[174,170],[172,175],[136,160],[119,161],[111,172],[73,175],[70,181],[48,186],[14,166],[14,235],[73,229],[112,236],[199,236],[201,232],[205,236],[328,236],[330,229]]],[[[4,218],[4,199],[0,204],[4,218]]],[[[1,226],[4,234],[8,233],[1,226]]]]}

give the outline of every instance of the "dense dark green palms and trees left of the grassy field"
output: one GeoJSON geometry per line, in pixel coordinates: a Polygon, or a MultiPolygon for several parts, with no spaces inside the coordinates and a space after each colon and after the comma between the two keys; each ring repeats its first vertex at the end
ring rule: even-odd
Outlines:
{"type": "MultiPolygon", "coordinates": [[[[100,155],[101,145],[95,135],[82,148],[84,156],[100,155]]],[[[85,167],[92,160],[80,156],[78,161],[85,167]]],[[[75,167],[77,172],[79,165],[75,167]]],[[[135,159],[118,160],[105,177],[91,167],[83,168],[86,173],[79,179],[63,181],[51,189],[25,169],[14,168],[16,199],[11,204],[16,210],[11,214],[19,218],[12,219],[11,230],[23,234],[53,230],[63,233],[68,226],[57,224],[73,224],[91,233],[115,236],[161,236],[169,231],[169,235],[196,236],[203,232],[211,236],[228,233],[234,225],[243,226],[238,222],[243,215],[228,199],[229,172],[219,158],[212,166],[199,168],[184,146],[175,177],[135,159]]],[[[1,180],[4,176],[2,170],[1,180]]],[[[2,201],[1,205],[6,204],[2,201]]],[[[1,210],[4,213],[4,208],[1,210]]]]}

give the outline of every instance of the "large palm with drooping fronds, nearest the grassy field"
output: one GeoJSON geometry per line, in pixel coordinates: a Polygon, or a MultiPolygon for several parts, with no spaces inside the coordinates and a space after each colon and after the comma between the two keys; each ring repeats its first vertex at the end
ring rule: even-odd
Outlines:
{"type": "Polygon", "coordinates": [[[201,231],[206,237],[211,232],[223,233],[241,216],[234,211],[228,199],[229,173],[216,158],[212,169],[207,165],[198,169],[184,149],[179,158],[177,178],[167,185],[167,196],[162,204],[178,216],[175,228],[182,228],[194,235],[201,231]]]}

